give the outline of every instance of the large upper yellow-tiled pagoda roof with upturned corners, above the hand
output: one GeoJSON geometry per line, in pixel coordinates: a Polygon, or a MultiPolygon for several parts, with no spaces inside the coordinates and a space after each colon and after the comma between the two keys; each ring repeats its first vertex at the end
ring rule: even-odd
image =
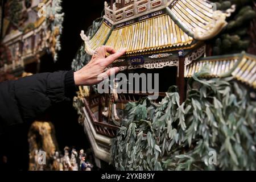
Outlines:
{"type": "Polygon", "coordinates": [[[216,36],[230,15],[213,11],[213,3],[205,0],[137,0],[113,9],[105,4],[104,22],[92,38],[81,34],[89,55],[102,45],[127,48],[127,55],[189,49],[216,36]]]}

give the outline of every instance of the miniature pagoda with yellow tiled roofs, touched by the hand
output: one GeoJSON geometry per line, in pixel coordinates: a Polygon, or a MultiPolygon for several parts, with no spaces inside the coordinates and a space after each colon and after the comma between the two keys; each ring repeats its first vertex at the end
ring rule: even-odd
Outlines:
{"type": "MultiPolygon", "coordinates": [[[[102,45],[116,50],[127,48],[126,55],[110,67],[119,67],[122,73],[159,73],[160,78],[162,74],[164,82],[160,81],[159,96],[166,96],[168,87],[177,85],[183,102],[185,78],[206,64],[210,67],[210,77],[229,75],[256,88],[255,56],[243,53],[210,57],[205,43],[220,34],[227,24],[226,18],[235,9],[232,6],[225,11],[214,10],[214,4],[205,0],[105,2],[104,20],[98,31],[90,37],[82,31],[81,36],[88,55],[102,45]]],[[[75,104],[82,115],[80,120],[84,119],[81,122],[96,159],[110,161],[110,139],[119,128],[122,110],[127,102],[148,95],[118,94],[113,99],[110,94],[98,94],[93,86],[80,88],[75,104]],[[81,105],[77,106],[77,101],[81,105]]]]}

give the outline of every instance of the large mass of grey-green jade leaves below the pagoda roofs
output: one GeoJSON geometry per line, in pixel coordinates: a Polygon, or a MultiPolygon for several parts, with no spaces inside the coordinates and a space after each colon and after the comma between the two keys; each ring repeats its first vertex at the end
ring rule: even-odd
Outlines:
{"type": "Polygon", "coordinates": [[[127,104],[111,142],[116,169],[256,169],[256,102],[232,77],[199,78],[205,73],[188,80],[181,105],[175,86],[160,103],[127,104]]]}

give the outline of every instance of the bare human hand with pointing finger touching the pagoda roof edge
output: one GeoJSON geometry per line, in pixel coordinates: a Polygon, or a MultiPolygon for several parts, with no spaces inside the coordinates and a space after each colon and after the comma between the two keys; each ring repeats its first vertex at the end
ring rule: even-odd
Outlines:
{"type": "Polygon", "coordinates": [[[110,74],[116,74],[119,72],[118,67],[114,67],[105,72],[106,67],[112,64],[114,60],[124,55],[126,49],[121,51],[115,51],[114,48],[109,46],[101,46],[94,53],[90,62],[85,65],[84,68],[74,73],[75,84],[77,86],[89,86],[100,83],[106,76],[110,74]],[[110,53],[110,56],[106,57],[106,53],[110,53]],[[100,80],[98,78],[101,78],[100,80]]]}

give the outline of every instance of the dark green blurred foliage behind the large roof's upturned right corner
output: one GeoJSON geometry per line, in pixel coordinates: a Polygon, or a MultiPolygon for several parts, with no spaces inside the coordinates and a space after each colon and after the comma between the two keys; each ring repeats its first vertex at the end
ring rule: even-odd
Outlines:
{"type": "Polygon", "coordinates": [[[247,51],[251,38],[249,35],[250,22],[255,19],[254,0],[214,0],[218,10],[225,11],[236,5],[236,11],[227,19],[228,25],[217,38],[213,39],[213,55],[223,55],[247,51]]]}

